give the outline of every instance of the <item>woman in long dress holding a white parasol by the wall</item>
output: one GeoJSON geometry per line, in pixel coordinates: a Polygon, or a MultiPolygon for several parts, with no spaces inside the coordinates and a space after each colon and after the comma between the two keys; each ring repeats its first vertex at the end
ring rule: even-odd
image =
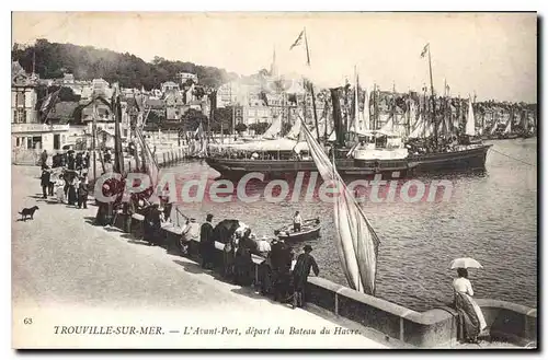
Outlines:
{"type": "Polygon", "coordinates": [[[472,299],[473,290],[468,280],[468,268],[481,268],[475,259],[466,257],[455,259],[452,269],[457,269],[457,278],[453,280],[455,292],[455,309],[459,316],[459,338],[467,342],[478,342],[478,336],[487,328],[486,318],[481,309],[472,299]]]}

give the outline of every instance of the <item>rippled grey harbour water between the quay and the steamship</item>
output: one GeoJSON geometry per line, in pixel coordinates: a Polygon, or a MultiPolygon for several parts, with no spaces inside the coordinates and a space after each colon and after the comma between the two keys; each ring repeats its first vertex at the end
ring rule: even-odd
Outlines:
{"type": "MultiPolygon", "coordinates": [[[[362,205],[381,242],[377,297],[416,311],[446,305],[453,300],[452,259],[473,257],[483,265],[469,274],[477,298],[537,307],[537,139],[491,143],[484,172],[418,178],[426,184],[432,179],[450,181],[449,199],[362,205]]],[[[219,175],[203,161],[181,163],[162,172],[174,173],[179,188],[202,176],[212,184],[219,175]]],[[[304,219],[318,217],[321,237],[296,243],[295,249],[310,244],[320,276],[347,286],[333,242],[332,204],[318,198],[310,202],[243,202],[235,196],[222,204],[184,201],[178,204],[178,209],[201,222],[209,212],[215,216],[214,223],[241,220],[258,236],[273,236],[275,229],[292,222],[296,210],[304,219]]],[[[176,211],[172,219],[184,222],[176,211]]]]}

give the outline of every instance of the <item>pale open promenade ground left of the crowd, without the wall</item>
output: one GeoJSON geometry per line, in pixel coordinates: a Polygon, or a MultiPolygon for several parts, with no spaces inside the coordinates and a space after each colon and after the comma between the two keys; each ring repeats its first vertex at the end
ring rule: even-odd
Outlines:
{"type": "Polygon", "coordinates": [[[292,310],[164,248],[94,227],[95,206],[77,209],[42,199],[38,176],[38,166],[12,166],[13,347],[399,346],[311,305],[292,310]],[[35,219],[18,221],[18,211],[34,205],[35,219]],[[96,328],[69,334],[75,326],[96,328]],[[148,326],[156,335],[101,335],[107,332],[101,326],[135,326],[137,333],[148,326]]]}

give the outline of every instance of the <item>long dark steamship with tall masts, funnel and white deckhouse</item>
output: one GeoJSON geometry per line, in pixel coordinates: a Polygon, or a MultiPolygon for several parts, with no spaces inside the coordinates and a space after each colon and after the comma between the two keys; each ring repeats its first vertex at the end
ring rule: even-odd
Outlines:
{"type": "MultiPolygon", "coordinates": [[[[306,33],[305,43],[306,43],[306,33]]],[[[423,54],[429,54],[430,60],[430,47],[423,50],[423,54]]],[[[309,63],[308,47],[307,47],[307,62],[309,63]]],[[[430,63],[430,61],[429,61],[430,63]]],[[[430,66],[432,70],[432,66],[430,66]]],[[[431,71],[431,84],[432,71],[431,71]]],[[[357,85],[357,76],[356,76],[357,85]]],[[[307,86],[311,94],[312,105],[315,104],[313,86],[307,86]]],[[[347,89],[346,86],[344,86],[347,89]]],[[[355,86],[357,89],[357,86],[355,86]]],[[[384,178],[401,178],[410,174],[424,174],[424,173],[438,173],[438,172],[455,172],[455,171],[469,171],[473,169],[484,169],[487,152],[491,144],[475,144],[475,146],[454,146],[453,148],[444,148],[444,144],[438,146],[438,132],[441,125],[435,124],[435,103],[434,103],[434,90],[432,86],[432,120],[430,124],[425,124],[425,112],[423,111],[419,117],[420,131],[424,138],[424,144],[416,141],[418,144],[408,144],[410,151],[407,147],[401,143],[401,137],[392,136],[391,133],[375,130],[372,132],[373,144],[375,148],[370,149],[369,143],[367,147],[363,147],[362,142],[365,142],[365,138],[368,135],[359,136],[358,141],[354,144],[346,143],[349,139],[350,124],[343,121],[343,113],[341,104],[343,88],[330,89],[331,93],[331,108],[333,118],[333,132],[329,136],[328,142],[333,143],[334,153],[334,165],[336,165],[338,171],[341,176],[349,177],[368,177],[380,174],[384,178]],[[431,148],[429,144],[430,135],[433,133],[433,139],[435,147],[431,148]],[[357,149],[359,148],[365,149],[357,149]],[[354,148],[356,147],[356,148],[354,148]],[[413,149],[414,147],[414,149],[413,149]],[[350,150],[350,151],[349,151],[350,150]],[[395,151],[398,150],[398,151],[395,151]]],[[[355,90],[356,91],[356,90],[355,90]]],[[[395,91],[393,91],[395,93],[395,91]]],[[[378,91],[374,91],[374,113],[375,113],[375,128],[378,128],[378,124],[385,124],[386,121],[380,121],[383,114],[378,111],[378,91]]],[[[393,95],[395,96],[395,95],[393,95]]],[[[357,96],[354,96],[357,102],[357,96]]],[[[425,98],[426,100],[426,98],[425,98]]],[[[356,103],[355,102],[355,103],[356,103]]],[[[464,108],[464,106],[463,106],[464,108]]],[[[356,108],[355,108],[356,109],[356,108]]],[[[354,116],[354,121],[357,120],[359,124],[359,112],[356,109],[354,116]]],[[[385,126],[393,127],[393,116],[396,115],[395,108],[392,108],[392,116],[386,116],[388,124],[385,126]]],[[[306,114],[305,114],[306,116],[306,114]]],[[[316,137],[319,136],[319,125],[316,118],[316,137]]],[[[365,123],[365,121],[364,121],[365,123]]],[[[305,129],[306,123],[301,126],[305,129]]],[[[354,130],[358,126],[355,124],[354,130]]],[[[415,128],[416,129],[416,128],[415,128]]],[[[308,130],[308,129],[307,129],[308,130]]],[[[364,131],[365,132],[365,131],[364,131]]],[[[391,132],[391,131],[390,131],[391,132]]],[[[356,133],[356,132],[354,132],[356,133]]],[[[415,135],[415,133],[413,133],[415,135]]],[[[290,141],[289,139],[285,139],[290,141]]],[[[219,172],[221,176],[229,178],[240,178],[249,173],[260,172],[265,175],[265,177],[286,177],[295,176],[299,172],[316,172],[318,166],[313,160],[305,160],[299,156],[295,156],[295,149],[297,147],[292,147],[290,149],[281,150],[279,148],[263,148],[262,159],[254,159],[254,161],[249,161],[248,159],[235,159],[231,156],[208,156],[206,158],[207,164],[219,172]],[[277,150],[277,151],[276,151],[277,150]]],[[[242,149],[244,150],[244,149],[242,149]]],[[[246,149],[250,151],[250,149],[246,149]]],[[[247,156],[247,155],[246,155],[247,156]]]]}

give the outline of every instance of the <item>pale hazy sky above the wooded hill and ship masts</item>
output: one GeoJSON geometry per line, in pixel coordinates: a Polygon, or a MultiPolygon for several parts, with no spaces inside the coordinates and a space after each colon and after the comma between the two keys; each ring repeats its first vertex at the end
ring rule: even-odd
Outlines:
{"type": "Polygon", "coordinates": [[[478,101],[537,102],[535,13],[178,13],[14,12],[12,43],[91,45],[150,61],[215,66],[240,74],[270,69],[336,86],[354,69],[363,86],[399,92],[430,85],[478,101]],[[289,50],[306,28],[305,44],[289,50]]]}

